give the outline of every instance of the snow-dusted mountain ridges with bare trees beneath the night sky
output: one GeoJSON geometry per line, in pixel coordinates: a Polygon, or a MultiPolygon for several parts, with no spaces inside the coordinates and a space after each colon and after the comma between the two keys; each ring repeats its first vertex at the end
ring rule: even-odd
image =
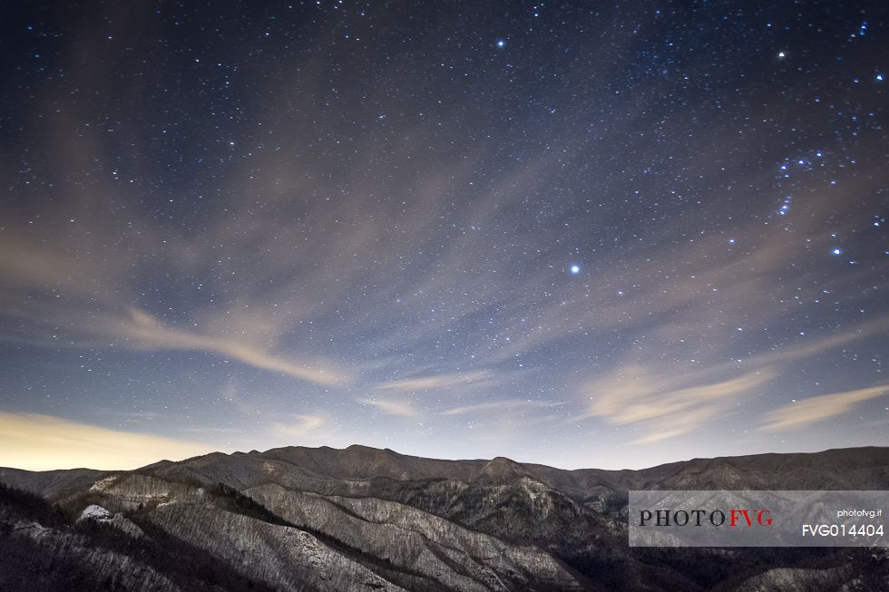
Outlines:
{"type": "Polygon", "coordinates": [[[0,481],[3,590],[889,589],[883,549],[629,548],[624,513],[630,489],[887,489],[887,449],[561,471],[293,447],[0,481]]]}

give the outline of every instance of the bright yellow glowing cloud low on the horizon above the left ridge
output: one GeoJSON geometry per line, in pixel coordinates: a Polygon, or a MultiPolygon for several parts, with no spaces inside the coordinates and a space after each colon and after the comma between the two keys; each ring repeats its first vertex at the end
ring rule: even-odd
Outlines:
{"type": "Polygon", "coordinates": [[[28,471],[136,469],[216,449],[217,445],[110,430],[50,415],[0,412],[0,466],[28,471]]]}

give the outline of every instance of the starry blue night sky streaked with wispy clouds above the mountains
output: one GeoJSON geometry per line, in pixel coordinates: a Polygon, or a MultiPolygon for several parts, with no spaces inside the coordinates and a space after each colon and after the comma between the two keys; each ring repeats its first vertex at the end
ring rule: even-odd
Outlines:
{"type": "Polygon", "coordinates": [[[0,465],[889,445],[884,2],[0,10],[0,465]]]}

